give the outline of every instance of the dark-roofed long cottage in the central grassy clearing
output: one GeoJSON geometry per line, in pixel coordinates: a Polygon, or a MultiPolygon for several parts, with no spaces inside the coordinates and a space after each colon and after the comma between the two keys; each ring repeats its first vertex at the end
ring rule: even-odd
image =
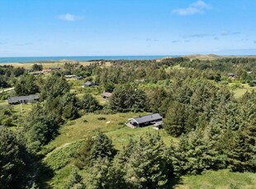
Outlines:
{"type": "Polygon", "coordinates": [[[159,113],[149,114],[142,117],[137,118],[130,118],[126,125],[129,127],[145,127],[149,125],[153,125],[154,127],[161,127],[162,126],[163,117],[159,115],[159,113]]]}

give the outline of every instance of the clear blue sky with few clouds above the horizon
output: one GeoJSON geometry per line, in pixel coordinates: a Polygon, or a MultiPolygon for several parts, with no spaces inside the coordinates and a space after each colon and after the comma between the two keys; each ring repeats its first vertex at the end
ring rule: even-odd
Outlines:
{"type": "Polygon", "coordinates": [[[1,0],[0,57],[256,54],[255,0],[1,0]]]}

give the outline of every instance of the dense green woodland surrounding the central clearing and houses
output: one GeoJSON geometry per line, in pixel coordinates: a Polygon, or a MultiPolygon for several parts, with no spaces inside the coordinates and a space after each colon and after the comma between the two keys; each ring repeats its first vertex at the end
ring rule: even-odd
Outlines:
{"type": "MultiPolygon", "coordinates": [[[[40,71],[42,66],[31,69],[40,71]]],[[[14,87],[2,91],[1,102],[10,96],[40,95],[25,115],[0,104],[0,188],[45,187],[40,177],[54,177],[61,167],[43,164],[50,153],[45,145],[67,122],[88,113],[102,119],[115,113],[160,113],[163,130],[178,142],[166,144],[157,131],[147,132],[116,150],[104,131],[95,131],[75,144],[65,188],[171,188],[183,175],[208,170],[255,173],[255,79],[255,58],[116,60],[90,66],[67,62],[40,76],[0,66],[0,89],[14,87]],[[100,85],[74,88],[66,75],[100,85]],[[252,90],[235,98],[233,90],[243,84],[252,90]],[[112,93],[106,104],[95,97],[103,91],[112,93]],[[86,177],[79,174],[83,170],[86,177]]]]}

